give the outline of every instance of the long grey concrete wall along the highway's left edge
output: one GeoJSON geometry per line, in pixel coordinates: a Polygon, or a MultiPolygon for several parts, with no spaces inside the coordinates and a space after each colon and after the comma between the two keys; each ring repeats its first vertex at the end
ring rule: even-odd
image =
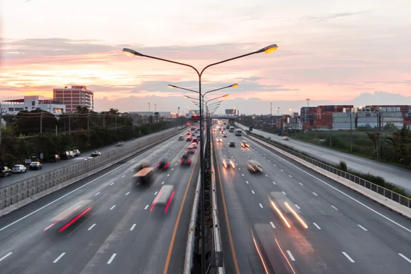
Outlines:
{"type": "Polygon", "coordinates": [[[60,188],[64,188],[80,179],[84,179],[106,169],[112,164],[128,158],[151,145],[155,145],[177,132],[179,132],[179,129],[173,129],[170,132],[160,132],[152,138],[137,140],[137,142],[133,142],[131,145],[110,151],[101,156],[71,164],[70,166],[64,166],[60,169],[43,173],[9,186],[4,186],[0,188],[0,216],[8,214],[13,210],[25,206],[27,203],[36,201],[41,197],[49,195],[51,192],[55,192],[60,188]]]}

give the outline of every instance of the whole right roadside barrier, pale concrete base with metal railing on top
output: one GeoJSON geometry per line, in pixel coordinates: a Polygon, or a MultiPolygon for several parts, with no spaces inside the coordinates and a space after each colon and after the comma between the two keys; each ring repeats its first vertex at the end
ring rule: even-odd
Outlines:
{"type": "Polygon", "coordinates": [[[377,184],[369,182],[356,175],[352,175],[351,173],[336,169],[334,168],[334,166],[329,166],[328,164],[312,159],[306,155],[303,155],[291,149],[287,149],[286,147],[282,147],[281,145],[277,145],[274,142],[269,142],[269,140],[258,136],[258,134],[252,134],[250,132],[245,132],[245,134],[249,138],[260,142],[262,145],[270,147],[271,149],[274,149],[275,151],[286,155],[288,158],[292,158],[297,162],[300,162],[301,164],[307,166],[308,168],[313,169],[314,171],[317,171],[327,177],[330,177],[331,179],[334,179],[335,181],[340,182],[341,184],[344,184],[349,188],[353,188],[353,190],[360,192],[361,194],[373,199],[374,201],[377,201],[378,203],[381,203],[382,205],[411,218],[410,198],[399,195],[398,193],[393,192],[388,188],[378,186],[377,184]],[[359,188],[358,186],[361,186],[362,188],[359,188]]]}

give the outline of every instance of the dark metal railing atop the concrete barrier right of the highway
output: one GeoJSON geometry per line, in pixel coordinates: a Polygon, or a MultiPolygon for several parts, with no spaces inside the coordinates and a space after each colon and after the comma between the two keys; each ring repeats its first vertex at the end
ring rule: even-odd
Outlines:
{"type": "MultiPolygon", "coordinates": [[[[286,151],[287,153],[290,153],[291,155],[294,155],[295,157],[298,157],[301,160],[309,162],[310,164],[313,164],[314,166],[318,166],[319,168],[324,169],[325,171],[329,171],[330,173],[334,173],[335,175],[338,175],[339,177],[343,177],[345,179],[348,179],[351,182],[354,182],[356,184],[359,184],[360,186],[363,186],[364,188],[372,190],[373,192],[377,192],[379,195],[382,195],[382,196],[386,197],[387,199],[393,200],[393,201],[401,204],[402,206],[406,206],[408,208],[411,208],[411,199],[408,198],[408,197],[405,197],[405,196],[400,195],[396,192],[393,192],[392,190],[389,190],[388,188],[378,186],[377,184],[369,182],[366,179],[362,179],[361,177],[358,177],[358,176],[353,175],[351,173],[348,173],[346,171],[336,169],[334,166],[329,166],[328,164],[324,164],[323,162],[320,162],[320,161],[315,160],[313,158],[310,158],[306,155],[303,155],[301,153],[293,151],[292,149],[287,149],[286,147],[282,147],[281,145],[277,145],[275,142],[271,142],[271,140],[266,140],[264,137],[262,137],[258,134],[253,134],[253,133],[250,133],[250,132],[245,132],[245,133],[251,138],[257,138],[257,139],[260,139],[260,140],[264,140],[266,142],[269,141],[270,145],[273,145],[274,147],[277,147],[277,149],[281,149],[282,151],[286,151]]],[[[411,181],[411,178],[410,178],[410,181],[411,181]]]]}

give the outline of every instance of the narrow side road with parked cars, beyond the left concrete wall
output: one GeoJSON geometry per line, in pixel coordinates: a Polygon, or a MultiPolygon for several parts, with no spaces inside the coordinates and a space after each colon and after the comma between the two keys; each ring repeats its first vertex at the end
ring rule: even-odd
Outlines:
{"type": "MultiPolygon", "coordinates": [[[[147,136],[142,136],[140,138],[136,138],[135,140],[127,140],[124,142],[124,146],[127,145],[131,145],[132,142],[139,142],[140,140],[147,140],[149,138],[151,138],[153,135],[158,135],[158,134],[164,134],[164,132],[169,132],[173,129],[166,129],[163,132],[156,132],[154,134],[149,134],[147,136]]],[[[103,153],[108,153],[110,151],[113,151],[115,149],[118,149],[119,147],[117,147],[116,145],[109,145],[109,146],[105,146],[105,147],[101,147],[99,149],[93,149],[92,151],[100,151],[101,154],[103,153]]],[[[73,148],[75,149],[75,148],[73,148]]],[[[0,178],[0,187],[3,186],[8,186],[10,184],[14,184],[16,182],[20,182],[23,181],[25,179],[28,179],[29,177],[33,177],[36,175],[40,175],[42,173],[47,173],[50,171],[54,171],[56,169],[60,169],[64,166],[69,166],[71,164],[75,164],[77,161],[81,161],[81,160],[85,160],[86,158],[88,158],[88,156],[90,156],[90,154],[92,153],[92,151],[80,151],[80,156],[79,157],[75,157],[72,158],[70,160],[61,160],[60,162],[45,162],[42,164],[42,169],[40,169],[40,171],[29,171],[27,169],[26,173],[15,173],[10,177],[5,177],[5,178],[0,178]]],[[[10,169],[12,168],[12,166],[9,166],[10,169]]]]}

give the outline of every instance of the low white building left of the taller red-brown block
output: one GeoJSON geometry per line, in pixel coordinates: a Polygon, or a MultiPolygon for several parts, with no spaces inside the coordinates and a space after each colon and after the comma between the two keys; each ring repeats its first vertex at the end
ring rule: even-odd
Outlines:
{"type": "Polygon", "coordinates": [[[66,113],[66,105],[55,100],[40,100],[38,96],[25,96],[24,99],[1,101],[1,114],[16,115],[23,110],[45,110],[58,115],[66,113]]]}

